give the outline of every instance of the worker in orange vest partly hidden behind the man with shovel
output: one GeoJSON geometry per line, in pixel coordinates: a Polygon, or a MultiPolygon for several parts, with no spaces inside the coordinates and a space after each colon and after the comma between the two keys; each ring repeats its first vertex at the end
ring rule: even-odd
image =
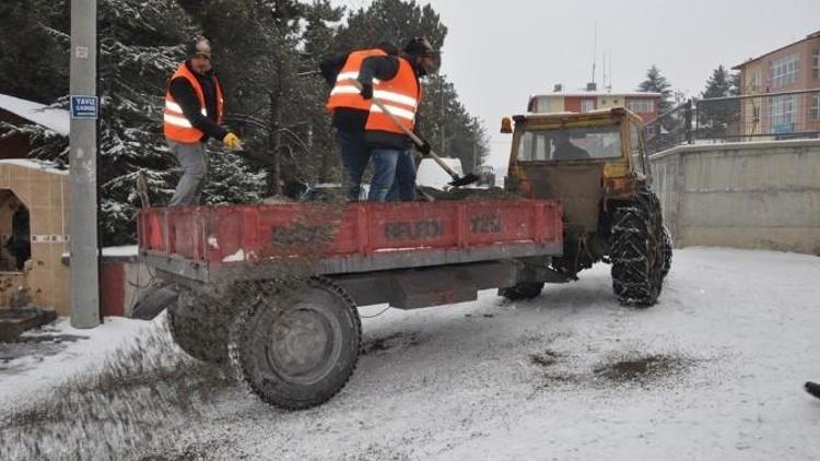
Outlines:
{"type": "Polygon", "coordinates": [[[359,94],[354,82],[365,59],[396,55],[398,49],[383,42],[375,48],[354,50],[319,63],[321,75],[332,86],[326,107],[332,114],[337,130],[336,140],[348,181],[349,201],[359,201],[362,175],[371,159],[370,149],[364,143],[364,126],[370,116],[371,102],[359,94]]]}

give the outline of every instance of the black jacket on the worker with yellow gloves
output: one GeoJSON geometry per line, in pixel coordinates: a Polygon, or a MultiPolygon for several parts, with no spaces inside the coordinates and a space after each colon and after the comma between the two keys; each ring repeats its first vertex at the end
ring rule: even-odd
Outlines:
{"type": "MultiPolygon", "coordinates": [[[[194,72],[190,62],[186,61],[185,66],[188,67],[188,70],[197,78],[200,86],[202,86],[208,117],[200,113],[201,107],[199,104],[199,97],[197,97],[197,92],[194,90],[190,82],[188,82],[188,79],[177,76],[172,80],[168,84],[168,92],[176,104],[183,108],[185,118],[190,121],[194,128],[204,133],[200,139],[201,142],[208,141],[208,138],[222,140],[227,134],[227,130],[216,125],[216,121],[219,120],[219,115],[216,114],[216,85],[219,82],[213,78],[212,71],[204,75],[200,75],[194,72]]],[[[220,90],[222,90],[222,86],[220,86],[220,90]]]]}

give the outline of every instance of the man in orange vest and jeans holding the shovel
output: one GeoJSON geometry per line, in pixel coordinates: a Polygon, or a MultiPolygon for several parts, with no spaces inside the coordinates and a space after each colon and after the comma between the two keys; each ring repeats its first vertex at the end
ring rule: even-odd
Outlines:
{"type": "MultiPolygon", "coordinates": [[[[373,158],[368,201],[384,202],[391,196],[402,201],[415,200],[415,162],[410,150],[413,143],[402,127],[418,134],[417,117],[422,99],[419,78],[435,70],[437,58],[426,38],[415,37],[398,57],[371,57],[362,63],[359,73],[362,97],[378,98],[402,125],[398,126],[377,105],[371,105],[364,137],[373,158]]],[[[423,155],[430,153],[427,142],[415,147],[423,155]]]]}

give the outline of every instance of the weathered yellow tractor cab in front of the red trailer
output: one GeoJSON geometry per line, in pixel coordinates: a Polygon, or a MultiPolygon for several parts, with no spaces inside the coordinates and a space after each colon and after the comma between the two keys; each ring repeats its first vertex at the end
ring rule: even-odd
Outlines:
{"type": "Polygon", "coordinates": [[[506,188],[560,200],[566,225],[596,229],[607,201],[630,200],[646,182],[641,119],[625,108],[529,114],[512,121],[505,119],[502,129],[513,134],[506,188]]]}

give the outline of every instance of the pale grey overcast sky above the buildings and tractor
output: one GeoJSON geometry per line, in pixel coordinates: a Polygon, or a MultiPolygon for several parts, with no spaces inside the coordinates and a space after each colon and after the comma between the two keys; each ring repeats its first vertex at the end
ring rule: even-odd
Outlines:
{"type": "MultiPolygon", "coordinates": [[[[431,0],[448,27],[442,72],[492,134],[494,166],[506,165],[501,118],[523,113],[530,94],[597,82],[611,54],[614,90],[635,90],[653,63],[687,95],[718,64],[734,67],[820,31],[820,0],[431,0]]],[[[367,0],[336,0],[359,7],[367,0]]],[[[607,78],[609,80],[609,76],[607,78]]]]}

